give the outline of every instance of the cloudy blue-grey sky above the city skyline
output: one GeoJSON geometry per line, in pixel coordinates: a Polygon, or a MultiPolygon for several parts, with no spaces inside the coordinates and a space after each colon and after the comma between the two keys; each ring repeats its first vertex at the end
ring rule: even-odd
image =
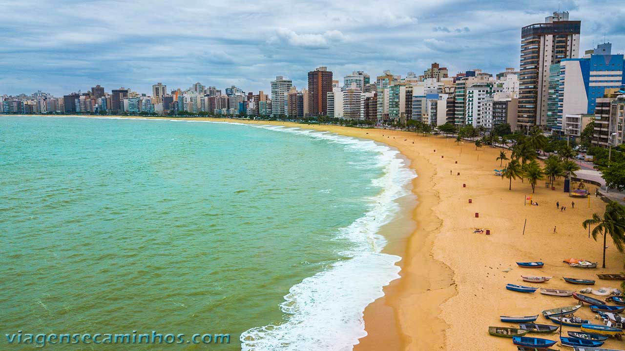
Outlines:
{"type": "Polygon", "coordinates": [[[268,92],[277,75],[305,87],[317,66],[341,81],[354,70],[421,74],[431,62],[496,73],[519,66],[521,27],[558,6],[582,21],[582,51],[604,35],[625,51],[625,10],[602,0],[0,0],[0,95],[95,84],[150,93],[156,82],[268,92]]]}

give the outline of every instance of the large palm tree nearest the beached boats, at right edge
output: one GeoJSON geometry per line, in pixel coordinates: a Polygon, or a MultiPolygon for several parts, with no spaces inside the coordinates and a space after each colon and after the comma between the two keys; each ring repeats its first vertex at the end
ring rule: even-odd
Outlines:
{"type": "Polygon", "coordinates": [[[595,225],[592,229],[592,239],[597,240],[598,235],[603,235],[603,268],[606,268],[606,237],[610,235],[612,242],[619,252],[625,249],[625,207],[611,201],[606,206],[603,217],[599,214],[592,214],[592,218],[584,220],[584,229],[590,225],[595,225]]]}

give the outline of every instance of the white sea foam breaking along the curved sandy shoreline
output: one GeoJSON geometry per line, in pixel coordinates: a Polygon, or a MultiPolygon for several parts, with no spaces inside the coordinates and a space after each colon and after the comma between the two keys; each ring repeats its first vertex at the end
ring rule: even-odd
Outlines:
{"type": "Polygon", "coordinates": [[[382,254],[381,250],[386,246],[386,239],[378,234],[381,227],[397,214],[399,211],[397,199],[409,194],[409,184],[416,177],[399,152],[373,141],[310,129],[237,122],[146,120],[259,127],[324,139],[357,151],[371,151],[377,154],[374,166],[382,167],[384,174],[378,179],[373,179],[372,185],[379,187],[379,194],[367,199],[370,209],[366,214],[336,233],[337,239],[348,239],[353,243],[350,250],[340,253],[347,259],[340,260],[328,269],[292,286],[289,294],[284,296],[284,302],[279,305],[285,314],[284,322],[249,329],[243,332],[240,338],[243,351],[352,350],[358,339],[366,335],[364,309],[384,295],[382,287],[399,278],[400,269],[396,263],[401,257],[382,254]]]}

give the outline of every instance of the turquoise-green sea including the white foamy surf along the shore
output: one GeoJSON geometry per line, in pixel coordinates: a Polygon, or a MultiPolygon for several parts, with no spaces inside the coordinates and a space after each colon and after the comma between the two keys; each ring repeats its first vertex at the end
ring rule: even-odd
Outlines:
{"type": "Polygon", "coordinates": [[[232,335],[58,350],[349,350],[414,177],[334,134],[71,117],[0,117],[0,174],[1,334],[232,335]]]}

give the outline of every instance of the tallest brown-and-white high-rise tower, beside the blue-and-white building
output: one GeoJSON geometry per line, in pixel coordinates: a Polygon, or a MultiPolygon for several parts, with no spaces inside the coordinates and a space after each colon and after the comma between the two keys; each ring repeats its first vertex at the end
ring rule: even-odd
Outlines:
{"type": "Polygon", "coordinates": [[[581,21],[569,21],[569,12],[554,12],[544,23],[521,29],[518,123],[546,126],[549,68],[579,53],[581,21]]]}

